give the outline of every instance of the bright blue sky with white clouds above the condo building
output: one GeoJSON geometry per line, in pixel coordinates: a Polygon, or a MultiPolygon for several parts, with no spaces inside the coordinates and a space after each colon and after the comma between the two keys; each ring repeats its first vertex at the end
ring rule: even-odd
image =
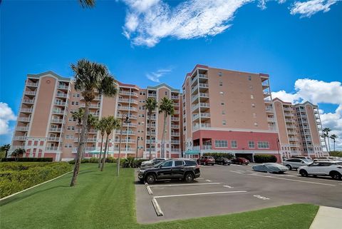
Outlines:
{"type": "MultiPolygon", "coordinates": [[[[269,73],[271,90],[280,91],[276,95],[318,103],[324,113],[331,113],[328,126],[341,125],[336,133],[341,131],[342,138],[342,121],[330,120],[342,117],[342,102],[336,98],[342,91],[342,2],[314,1],[318,8],[303,5],[307,1],[236,0],[222,4],[220,8],[227,8],[220,12],[214,4],[197,10],[202,6],[195,0],[145,0],[145,6],[130,0],[97,1],[94,9],[83,9],[76,0],[5,0],[0,5],[0,102],[16,115],[27,73],[72,76],[70,64],[79,58],[105,63],[118,80],[142,87],[157,84],[147,78],[154,76],[180,88],[185,73],[202,63],[269,73]],[[184,15],[182,9],[193,12],[184,15]],[[156,10],[163,18],[151,22],[156,10]],[[198,13],[206,18],[194,20],[198,13]],[[214,17],[216,26],[210,24],[214,17]],[[195,29],[189,27],[193,24],[195,29]],[[308,85],[328,92],[314,94],[319,91],[314,89],[311,94],[308,85]]],[[[9,132],[0,135],[0,143],[9,141],[15,121],[7,118],[6,123],[9,132]]]]}

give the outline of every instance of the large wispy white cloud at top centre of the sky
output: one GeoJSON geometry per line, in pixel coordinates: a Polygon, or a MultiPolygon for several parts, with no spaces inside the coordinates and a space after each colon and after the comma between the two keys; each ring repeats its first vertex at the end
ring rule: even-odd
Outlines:
{"type": "Polygon", "coordinates": [[[167,36],[195,39],[229,28],[234,13],[253,0],[189,0],[171,8],[158,0],[123,0],[128,13],[123,34],[133,44],[155,46],[167,36]]]}

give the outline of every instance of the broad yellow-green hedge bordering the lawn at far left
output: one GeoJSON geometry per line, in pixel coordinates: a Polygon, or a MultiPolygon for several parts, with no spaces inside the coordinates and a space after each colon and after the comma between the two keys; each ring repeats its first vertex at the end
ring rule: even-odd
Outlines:
{"type": "Polygon", "coordinates": [[[46,180],[70,172],[72,166],[65,162],[0,164],[0,198],[30,188],[46,180]]]}

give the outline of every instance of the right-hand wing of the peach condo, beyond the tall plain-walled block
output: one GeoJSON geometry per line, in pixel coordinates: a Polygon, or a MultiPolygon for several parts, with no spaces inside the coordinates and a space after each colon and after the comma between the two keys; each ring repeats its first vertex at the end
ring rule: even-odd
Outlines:
{"type": "Polygon", "coordinates": [[[286,158],[328,156],[327,151],[323,151],[325,144],[318,106],[310,102],[292,104],[279,98],[274,98],[273,101],[281,155],[286,158]]]}

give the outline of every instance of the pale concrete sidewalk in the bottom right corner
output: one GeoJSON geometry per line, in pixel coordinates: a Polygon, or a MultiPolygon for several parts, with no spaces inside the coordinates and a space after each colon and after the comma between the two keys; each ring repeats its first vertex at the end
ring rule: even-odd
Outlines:
{"type": "Polygon", "coordinates": [[[336,229],[342,227],[342,209],[320,206],[310,229],[336,229]]]}

